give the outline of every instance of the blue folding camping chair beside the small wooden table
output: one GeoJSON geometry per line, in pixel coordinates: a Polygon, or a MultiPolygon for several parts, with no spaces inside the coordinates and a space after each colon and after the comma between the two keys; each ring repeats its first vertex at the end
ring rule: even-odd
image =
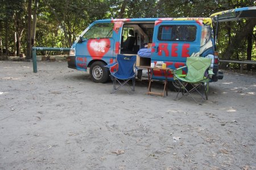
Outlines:
{"type": "MultiPolygon", "coordinates": [[[[113,80],[113,90],[112,93],[114,94],[119,88],[123,87],[125,84],[131,88],[132,91],[135,89],[135,75],[138,71],[138,68],[135,67],[136,56],[125,56],[122,54],[117,54],[117,62],[111,63],[106,65],[109,70],[112,67],[116,68],[115,72],[110,70],[110,78],[113,80]],[[133,81],[133,87],[131,87],[128,82],[129,80],[133,81]],[[117,86],[117,82],[119,86],[117,86]]],[[[126,90],[129,94],[130,91],[126,90]]]]}

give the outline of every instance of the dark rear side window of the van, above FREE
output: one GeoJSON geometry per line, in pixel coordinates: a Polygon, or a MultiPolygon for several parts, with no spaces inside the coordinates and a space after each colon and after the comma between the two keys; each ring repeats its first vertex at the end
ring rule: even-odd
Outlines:
{"type": "Polygon", "coordinates": [[[195,25],[161,25],[158,29],[160,41],[195,41],[195,25]]]}

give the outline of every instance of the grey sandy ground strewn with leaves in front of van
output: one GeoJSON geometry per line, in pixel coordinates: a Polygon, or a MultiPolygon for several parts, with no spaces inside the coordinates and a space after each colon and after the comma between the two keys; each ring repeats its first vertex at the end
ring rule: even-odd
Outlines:
{"type": "Polygon", "coordinates": [[[255,75],[225,73],[203,105],[147,81],[110,94],[64,61],[1,61],[0,84],[0,169],[256,169],[255,75]]]}

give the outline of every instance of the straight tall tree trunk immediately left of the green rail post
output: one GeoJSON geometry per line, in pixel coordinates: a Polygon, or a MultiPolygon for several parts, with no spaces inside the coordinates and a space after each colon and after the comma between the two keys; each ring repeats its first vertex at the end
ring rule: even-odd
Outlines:
{"type": "Polygon", "coordinates": [[[27,17],[27,55],[26,58],[27,59],[31,59],[31,50],[32,50],[32,46],[31,46],[31,14],[32,14],[32,9],[31,9],[31,2],[32,0],[28,0],[28,17],[27,17]]]}

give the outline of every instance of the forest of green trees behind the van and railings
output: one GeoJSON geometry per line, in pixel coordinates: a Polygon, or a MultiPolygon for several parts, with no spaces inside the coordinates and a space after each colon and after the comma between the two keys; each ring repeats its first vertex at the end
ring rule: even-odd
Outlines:
{"type": "MultiPolygon", "coordinates": [[[[0,0],[0,57],[24,53],[30,59],[31,46],[70,48],[98,19],[208,17],[255,4],[255,0],[0,0]]],[[[256,19],[221,23],[220,58],[255,61],[255,24],[256,19]]]]}

